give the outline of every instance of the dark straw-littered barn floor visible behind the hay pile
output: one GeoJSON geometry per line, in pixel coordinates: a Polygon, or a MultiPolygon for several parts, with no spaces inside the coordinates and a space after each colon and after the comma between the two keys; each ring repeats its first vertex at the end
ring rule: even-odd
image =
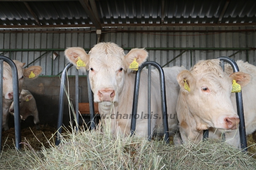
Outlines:
{"type": "MultiPolygon", "coordinates": [[[[49,125],[40,125],[40,130],[36,130],[36,127],[28,127],[21,129],[21,142],[29,143],[34,150],[40,150],[42,144],[45,147],[49,147],[50,143],[54,143],[55,137],[52,137],[56,131],[55,127],[49,125]],[[38,140],[40,141],[38,141],[38,140]]],[[[172,138],[170,138],[172,141],[172,138]]],[[[15,130],[10,128],[8,131],[3,131],[2,148],[3,150],[14,148],[15,142],[15,130]]],[[[22,144],[22,148],[24,144],[22,144]]],[[[250,146],[248,151],[254,153],[253,158],[256,159],[256,143],[253,141],[252,135],[247,137],[247,145],[250,146]]]]}

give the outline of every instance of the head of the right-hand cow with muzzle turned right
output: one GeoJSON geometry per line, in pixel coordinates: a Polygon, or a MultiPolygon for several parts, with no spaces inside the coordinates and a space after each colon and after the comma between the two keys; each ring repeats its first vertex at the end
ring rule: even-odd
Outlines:
{"type": "Polygon", "coordinates": [[[190,71],[183,70],[177,76],[180,94],[176,110],[180,128],[186,127],[188,122],[196,123],[199,131],[209,127],[237,128],[239,117],[230,100],[232,80],[243,88],[251,77],[243,72],[228,76],[219,63],[218,59],[199,61],[190,71]],[[190,92],[184,88],[185,82],[190,92]]]}

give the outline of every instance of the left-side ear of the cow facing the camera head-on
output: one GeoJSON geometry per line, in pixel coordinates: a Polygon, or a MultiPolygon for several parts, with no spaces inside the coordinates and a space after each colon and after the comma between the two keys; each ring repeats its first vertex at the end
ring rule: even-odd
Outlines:
{"type": "Polygon", "coordinates": [[[76,62],[78,61],[78,58],[85,63],[86,66],[89,65],[90,55],[86,54],[84,51],[84,48],[81,47],[70,47],[65,50],[65,56],[68,59],[70,63],[77,66],[76,62]]]}

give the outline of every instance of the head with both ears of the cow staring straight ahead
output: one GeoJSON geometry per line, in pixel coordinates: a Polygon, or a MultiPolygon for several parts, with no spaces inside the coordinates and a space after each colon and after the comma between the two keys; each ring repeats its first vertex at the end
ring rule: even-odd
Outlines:
{"type": "Polygon", "coordinates": [[[65,50],[67,59],[77,66],[76,62],[82,60],[86,67],[81,69],[89,70],[89,79],[94,102],[104,102],[104,105],[111,105],[111,102],[118,102],[118,96],[124,87],[125,74],[130,74],[130,64],[134,59],[139,66],[148,57],[144,49],[134,48],[127,55],[124,55],[123,48],[114,43],[98,43],[89,54],[83,48],[72,47],[65,50]]]}

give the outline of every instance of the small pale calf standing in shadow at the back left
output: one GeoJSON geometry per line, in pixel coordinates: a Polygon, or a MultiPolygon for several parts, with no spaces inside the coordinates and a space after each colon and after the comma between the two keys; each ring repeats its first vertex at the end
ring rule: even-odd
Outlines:
{"type": "MultiPolygon", "coordinates": [[[[9,112],[14,115],[14,104],[10,106],[9,112]]],[[[26,120],[28,116],[34,117],[34,123],[36,125],[36,130],[40,129],[38,111],[36,107],[36,100],[33,95],[28,91],[22,89],[21,99],[20,99],[20,118],[26,120]]]]}

